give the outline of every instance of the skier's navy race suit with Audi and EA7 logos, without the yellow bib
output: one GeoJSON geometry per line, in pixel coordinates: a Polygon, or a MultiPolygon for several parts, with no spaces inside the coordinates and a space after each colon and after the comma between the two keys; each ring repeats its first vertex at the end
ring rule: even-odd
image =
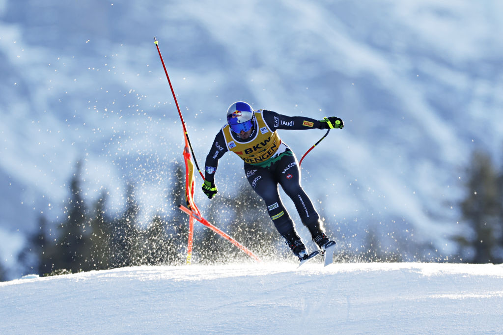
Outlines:
{"type": "MultiPolygon", "coordinates": [[[[323,129],[322,122],[312,118],[291,117],[268,110],[263,110],[262,116],[273,132],[277,129],[323,129]]],[[[246,141],[255,138],[258,132],[259,129],[255,126],[246,141]]],[[[242,142],[236,133],[232,131],[230,133],[234,141],[242,142]]],[[[212,184],[214,183],[218,160],[225,152],[229,151],[225,143],[226,139],[223,130],[220,130],[215,136],[209,154],[206,156],[205,178],[206,181],[212,184]]],[[[288,145],[281,141],[280,147],[274,156],[261,164],[244,162],[244,172],[250,186],[264,199],[269,216],[278,232],[287,240],[287,244],[288,241],[299,239],[299,237],[295,231],[292,218],[280,199],[278,185],[281,185],[285,193],[292,199],[302,223],[309,229],[313,238],[316,234],[322,232],[323,228],[320,226],[319,215],[300,185],[300,170],[297,158],[288,145]]]]}

